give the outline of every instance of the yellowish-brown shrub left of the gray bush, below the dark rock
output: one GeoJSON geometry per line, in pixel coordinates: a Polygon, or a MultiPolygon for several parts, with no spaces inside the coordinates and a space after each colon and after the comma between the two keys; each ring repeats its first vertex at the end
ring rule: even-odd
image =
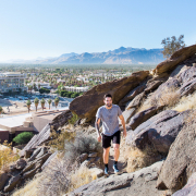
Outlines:
{"type": "Polygon", "coordinates": [[[66,130],[62,130],[61,133],[57,133],[54,130],[51,131],[50,137],[52,138],[49,142],[49,145],[54,149],[54,150],[60,150],[64,151],[64,145],[68,142],[72,142],[75,137],[75,132],[70,132],[66,130]]]}

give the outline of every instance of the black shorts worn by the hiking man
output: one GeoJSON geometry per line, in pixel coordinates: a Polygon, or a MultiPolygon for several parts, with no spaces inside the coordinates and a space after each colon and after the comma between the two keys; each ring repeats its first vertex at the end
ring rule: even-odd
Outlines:
{"type": "Polygon", "coordinates": [[[121,132],[118,131],[113,135],[108,136],[102,133],[102,147],[108,148],[111,146],[111,140],[113,144],[120,144],[121,142],[121,132]]]}

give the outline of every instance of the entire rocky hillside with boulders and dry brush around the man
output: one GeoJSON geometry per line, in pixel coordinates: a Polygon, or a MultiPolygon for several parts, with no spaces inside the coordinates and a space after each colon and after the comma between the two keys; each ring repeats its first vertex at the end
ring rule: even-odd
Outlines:
{"type": "Polygon", "coordinates": [[[2,193],[13,189],[28,173],[39,173],[42,179],[37,183],[41,185],[37,195],[195,195],[195,101],[196,45],[176,51],[155,70],[97,85],[75,98],[70,111],[57,118],[50,128],[33,137],[21,152],[20,161],[27,163],[23,170],[17,162],[16,174],[12,172],[12,177],[7,179],[3,179],[5,174],[1,175],[2,193]],[[101,149],[94,127],[96,111],[103,105],[106,93],[121,107],[127,128],[119,162],[123,172],[107,179],[102,176],[101,149]],[[64,127],[74,114],[79,118],[75,119],[75,125],[70,130],[64,127]],[[49,142],[54,140],[51,130],[57,128],[66,132],[64,137],[60,135],[56,139],[63,158],[56,160],[52,169],[49,166],[58,151],[49,151],[49,142]],[[70,137],[70,133],[81,135],[70,137]],[[36,161],[45,156],[49,158],[41,160],[41,164],[36,161]],[[45,168],[44,162],[47,162],[45,168]]]}

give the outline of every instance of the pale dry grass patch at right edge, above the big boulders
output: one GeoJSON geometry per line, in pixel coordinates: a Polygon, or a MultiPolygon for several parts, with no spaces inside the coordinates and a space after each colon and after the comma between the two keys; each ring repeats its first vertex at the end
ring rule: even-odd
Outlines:
{"type": "Polygon", "coordinates": [[[172,110],[176,110],[179,112],[188,110],[188,109],[196,109],[196,93],[182,97],[179,103],[172,108],[172,110]]]}

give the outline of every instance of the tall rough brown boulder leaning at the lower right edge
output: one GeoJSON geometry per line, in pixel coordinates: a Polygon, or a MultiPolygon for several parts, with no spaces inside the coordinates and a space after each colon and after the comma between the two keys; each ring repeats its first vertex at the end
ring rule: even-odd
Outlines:
{"type": "MultiPolygon", "coordinates": [[[[195,119],[194,115],[193,118],[195,119]]],[[[184,126],[172,144],[157,182],[158,188],[179,191],[196,172],[195,126],[195,122],[184,126]]]]}

